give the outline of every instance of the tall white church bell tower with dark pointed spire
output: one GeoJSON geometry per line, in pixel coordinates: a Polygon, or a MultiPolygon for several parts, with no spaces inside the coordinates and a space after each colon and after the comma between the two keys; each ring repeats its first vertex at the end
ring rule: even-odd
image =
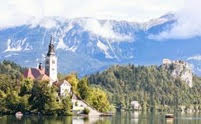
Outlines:
{"type": "Polygon", "coordinates": [[[45,74],[50,78],[50,85],[57,81],[57,57],[55,54],[52,37],[50,39],[47,56],[45,58],[45,74]]]}

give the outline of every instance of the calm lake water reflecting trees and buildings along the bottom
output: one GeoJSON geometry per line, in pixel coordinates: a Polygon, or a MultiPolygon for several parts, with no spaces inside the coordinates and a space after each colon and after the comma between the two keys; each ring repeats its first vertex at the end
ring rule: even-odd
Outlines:
{"type": "Polygon", "coordinates": [[[0,117],[0,124],[201,124],[201,114],[175,114],[174,119],[165,119],[164,113],[118,112],[111,117],[56,117],[15,116],[0,117]]]}

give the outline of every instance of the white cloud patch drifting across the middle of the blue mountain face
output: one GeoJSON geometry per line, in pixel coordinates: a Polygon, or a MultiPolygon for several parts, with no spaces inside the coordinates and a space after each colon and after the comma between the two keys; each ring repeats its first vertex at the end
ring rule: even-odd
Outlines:
{"type": "Polygon", "coordinates": [[[129,35],[119,34],[113,31],[112,24],[109,21],[101,24],[96,19],[86,19],[85,20],[84,29],[90,31],[91,33],[101,36],[106,39],[110,39],[111,42],[119,42],[119,41],[129,41],[132,39],[129,35]]]}

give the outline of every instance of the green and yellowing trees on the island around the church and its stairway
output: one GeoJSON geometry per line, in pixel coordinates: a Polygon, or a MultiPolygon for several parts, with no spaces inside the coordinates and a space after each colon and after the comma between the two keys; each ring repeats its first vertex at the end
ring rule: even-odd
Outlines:
{"type": "MultiPolygon", "coordinates": [[[[47,81],[25,79],[25,68],[10,62],[0,63],[0,114],[23,113],[72,115],[72,96],[58,96],[58,87],[47,81]]],[[[62,76],[60,76],[62,78],[62,76]]],[[[63,76],[72,85],[73,92],[100,112],[110,111],[107,94],[88,85],[87,78],[76,74],[63,76]]]]}

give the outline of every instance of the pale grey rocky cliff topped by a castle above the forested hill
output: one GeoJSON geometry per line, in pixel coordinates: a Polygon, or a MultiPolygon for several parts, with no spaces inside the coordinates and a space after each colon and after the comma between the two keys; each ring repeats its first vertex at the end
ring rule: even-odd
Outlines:
{"type": "Polygon", "coordinates": [[[193,86],[192,69],[187,62],[181,60],[171,61],[169,59],[164,59],[162,66],[171,73],[172,77],[180,78],[182,81],[186,82],[189,87],[193,86]]]}

